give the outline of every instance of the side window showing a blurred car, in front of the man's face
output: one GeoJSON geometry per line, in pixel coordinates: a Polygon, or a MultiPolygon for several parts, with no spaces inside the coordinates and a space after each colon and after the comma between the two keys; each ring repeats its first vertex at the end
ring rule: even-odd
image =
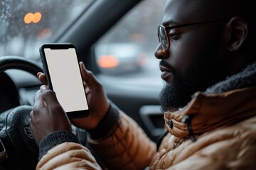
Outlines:
{"type": "Polygon", "coordinates": [[[101,79],[116,79],[129,85],[161,84],[159,61],[154,50],[159,44],[166,0],[145,0],[134,7],[95,45],[95,59],[101,79]],[[156,79],[156,81],[149,80],[156,79]]]}

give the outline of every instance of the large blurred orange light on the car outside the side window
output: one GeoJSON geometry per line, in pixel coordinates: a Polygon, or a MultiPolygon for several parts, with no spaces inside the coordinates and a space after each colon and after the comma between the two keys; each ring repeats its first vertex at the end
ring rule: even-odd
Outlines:
{"type": "Polygon", "coordinates": [[[113,68],[118,66],[119,61],[112,55],[102,55],[98,60],[98,64],[102,68],[113,68]]]}

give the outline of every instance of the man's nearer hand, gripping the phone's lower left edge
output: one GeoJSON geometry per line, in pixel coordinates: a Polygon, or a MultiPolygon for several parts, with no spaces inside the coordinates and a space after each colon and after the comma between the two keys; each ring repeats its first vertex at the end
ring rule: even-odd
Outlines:
{"type": "Polygon", "coordinates": [[[60,130],[72,132],[68,116],[58,103],[54,91],[48,89],[46,85],[41,86],[37,91],[30,117],[31,133],[37,145],[43,137],[52,132],[60,130]]]}

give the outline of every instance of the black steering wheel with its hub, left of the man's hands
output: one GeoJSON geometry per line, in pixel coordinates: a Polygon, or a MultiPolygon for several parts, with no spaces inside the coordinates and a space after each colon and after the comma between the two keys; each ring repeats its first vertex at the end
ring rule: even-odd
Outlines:
{"type": "MultiPolygon", "coordinates": [[[[7,69],[20,69],[34,76],[43,72],[38,64],[24,57],[0,57],[0,74],[7,69]]],[[[38,146],[29,129],[32,109],[32,106],[16,106],[0,113],[0,169],[35,169],[38,146]]]]}

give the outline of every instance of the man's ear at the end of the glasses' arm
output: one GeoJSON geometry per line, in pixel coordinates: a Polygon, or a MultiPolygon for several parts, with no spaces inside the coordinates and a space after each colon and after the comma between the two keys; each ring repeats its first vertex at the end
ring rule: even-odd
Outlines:
{"type": "Polygon", "coordinates": [[[248,33],[247,22],[240,17],[233,17],[228,22],[228,50],[235,52],[245,43],[248,33]]]}

